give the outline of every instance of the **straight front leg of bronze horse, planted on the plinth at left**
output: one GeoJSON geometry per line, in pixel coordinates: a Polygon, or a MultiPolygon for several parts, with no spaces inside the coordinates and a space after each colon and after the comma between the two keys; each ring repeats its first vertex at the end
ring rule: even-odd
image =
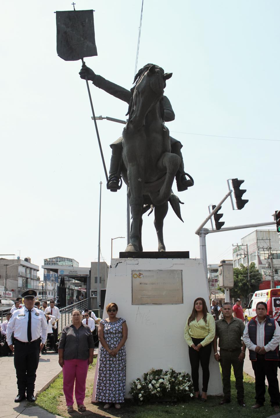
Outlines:
{"type": "Polygon", "coordinates": [[[126,247],[128,252],[136,252],[140,250],[140,225],[143,211],[143,178],[139,167],[129,166],[128,183],[130,189],[130,208],[132,215],[130,242],[126,247]]]}

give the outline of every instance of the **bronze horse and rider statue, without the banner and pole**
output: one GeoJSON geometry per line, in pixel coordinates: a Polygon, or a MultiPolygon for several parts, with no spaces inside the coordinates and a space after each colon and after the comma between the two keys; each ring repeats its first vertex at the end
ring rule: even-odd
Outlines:
{"type": "Polygon", "coordinates": [[[96,75],[85,65],[79,74],[82,79],[87,77],[95,86],[129,104],[123,135],[110,145],[112,157],[107,184],[108,189],[117,191],[122,176],[129,187],[132,224],[126,251],[143,250],[142,215],[149,207],[154,209],[158,250],[165,251],[162,229],[168,201],[182,220],[179,205],[182,202],[171,189],[174,177],[178,191],[187,190],[194,184],[193,178],[184,171],[181,143],[170,137],[164,125],[175,119],[170,101],[163,95],[166,80],[172,73],[164,73],[161,67],[147,64],[136,74],[136,84],[131,90],[96,75]]]}

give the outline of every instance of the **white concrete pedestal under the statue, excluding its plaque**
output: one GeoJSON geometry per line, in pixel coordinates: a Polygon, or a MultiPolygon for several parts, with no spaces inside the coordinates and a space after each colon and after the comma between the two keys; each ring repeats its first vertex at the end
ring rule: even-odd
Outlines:
{"type": "MultiPolygon", "coordinates": [[[[191,373],[188,345],[184,339],[187,316],[195,298],[201,296],[208,305],[208,286],[202,260],[198,259],[112,259],[109,269],[105,306],[118,305],[118,317],[126,319],[126,397],[130,383],[154,369],[191,373]],[[132,270],[182,270],[183,303],[174,305],[132,305],[132,270]]],[[[208,306],[208,310],[209,310],[208,306]]],[[[107,317],[104,308],[103,318],[107,317]]],[[[200,368],[200,391],[202,386],[200,368]]],[[[219,365],[210,360],[208,395],[222,394],[219,365]]]]}

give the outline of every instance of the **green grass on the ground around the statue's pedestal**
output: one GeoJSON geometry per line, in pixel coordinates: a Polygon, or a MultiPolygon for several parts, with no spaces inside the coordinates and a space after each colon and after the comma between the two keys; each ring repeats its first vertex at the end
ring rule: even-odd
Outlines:
{"type": "MultiPolygon", "coordinates": [[[[96,364],[94,359],[93,365],[96,364]]],[[[92,366],[90,366],[92,367],[92,366]]],[[[59,396],[63,395],[62,390],[63,378],[62,373],[51,384],[51,386],[41,393],[36,401],[36,405],[47,411],[62,415],[58,410],[59,396]]],[[[114,408],[108,410],[108,415],[112,414],[115,417],[123,418],[173,418],[173,417],[187,417],[187,418],[209,418],[209,416],[219,418],[229,418],[230,415],[237,414],[238,418],[266,418],[274,414],[269,402],[269,395],[266,393],[266,403],[263,408],[258,410],[250,409],[250,406],[255,403],[254,379],[248,375],[244,375],[244,391],[246,407],[242,408],[238,405],[236,400],[235,379],[233,371],[231,373],[231,403],[226,405],[218,405],[221,398],[216,396],[209,396],[206,403],[200,400],[190,400],[188,403],[150,403],[138,405],[132,400],[128,400],[121,410],[117,411],[114,408]],[[210,415],[211,414],[211,415],[210,415]]],[[[92,395],[92,385],[87,387],[86,396],[92,395]]],[[[92,416],[92,412],[90,412],[92,416]]],[[[87,413],[84,413],[87,415],[87,413]]]]}

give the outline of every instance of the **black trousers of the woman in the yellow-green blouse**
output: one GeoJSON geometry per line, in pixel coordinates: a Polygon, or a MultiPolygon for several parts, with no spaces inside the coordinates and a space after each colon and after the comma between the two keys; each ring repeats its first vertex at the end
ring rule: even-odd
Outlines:
{"type": "MultiPolygon", "coordinates": [[[[204,338],[192,338],[193,344],[198,345],[204,338]]],[[[195,392],[199,391],[198,387],[198,370],[199,362],[202,368],[202,391],[207,392],[208,382],[210,377],[209,361],[211,356],[212,344],[207,344],[205,347],[201,347],[199,351],[189,347],[190,367],[192,369],[192,380],[195,392]]]]}

